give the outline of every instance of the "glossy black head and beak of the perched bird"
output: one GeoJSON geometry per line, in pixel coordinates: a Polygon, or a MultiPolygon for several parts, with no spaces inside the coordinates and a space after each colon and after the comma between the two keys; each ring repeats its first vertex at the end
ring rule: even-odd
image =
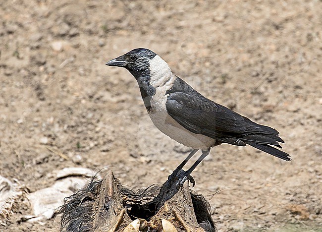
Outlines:
{"type": "Polygon", "coordinates": [[[157,54],[149,49],[138,48],[108,61],[106,65],[124,67],[138,78],[138,75],[149,71],[150,60],[155,56],[157,54]]]}

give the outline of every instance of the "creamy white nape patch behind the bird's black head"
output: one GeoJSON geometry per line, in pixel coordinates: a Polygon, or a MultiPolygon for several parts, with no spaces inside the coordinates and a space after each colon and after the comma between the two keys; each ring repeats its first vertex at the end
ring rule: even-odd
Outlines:
{"type": "Polygon", "coordinates": [[[150,85],[157,88],[174,77],[169,65],[158,55],[150,60],[150,85]]]}

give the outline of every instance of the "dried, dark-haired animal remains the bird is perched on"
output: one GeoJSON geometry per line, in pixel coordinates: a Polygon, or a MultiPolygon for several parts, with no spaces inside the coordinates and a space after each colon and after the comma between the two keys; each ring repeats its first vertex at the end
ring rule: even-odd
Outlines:
{"type": "MultiPolygon", "coordinates": [[[[179,171],[178,175],[183,172],[179,171]]],[[[207,200],[189,189],[176,188],[171,174],[162,186],[134,191],[108,171],[65,199],[61,231],[67,232],[215,232],[207,200]]]]}

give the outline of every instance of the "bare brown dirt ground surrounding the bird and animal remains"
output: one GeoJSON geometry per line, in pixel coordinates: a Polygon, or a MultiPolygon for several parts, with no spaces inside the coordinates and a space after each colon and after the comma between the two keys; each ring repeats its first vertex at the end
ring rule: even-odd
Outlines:
{"type": "MultiPolygon", "coordinates": [[[[286,141],[292,162],[221,145],[196,169],[194,190],[211,198],[218,230],[322,231],[321,9],[321,0],[1,1],[0,174],[31,192],[65,167],[109,167],[133,187],[164,182],[189,149],[153,126],[130,73],[105,65],[144,47],[286,141]]],[[[21,207],[0,231],[59,228],[20,222],[28,214],[21,207]]]]}

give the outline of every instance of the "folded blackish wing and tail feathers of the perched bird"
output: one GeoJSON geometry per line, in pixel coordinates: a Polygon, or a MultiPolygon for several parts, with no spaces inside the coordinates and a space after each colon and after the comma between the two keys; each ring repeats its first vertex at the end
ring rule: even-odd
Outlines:
{"type": "Polygon", "coordinates": [[[237,146],[249,144],[280,159],[290,160],[287,153],[270,146],[281,148],[278,142],[284,142],[277,130],[257,124],[196,91],[169,93],[166,110],[174,120],[193,133],[209,136],[221,143],[237,146]]]}

